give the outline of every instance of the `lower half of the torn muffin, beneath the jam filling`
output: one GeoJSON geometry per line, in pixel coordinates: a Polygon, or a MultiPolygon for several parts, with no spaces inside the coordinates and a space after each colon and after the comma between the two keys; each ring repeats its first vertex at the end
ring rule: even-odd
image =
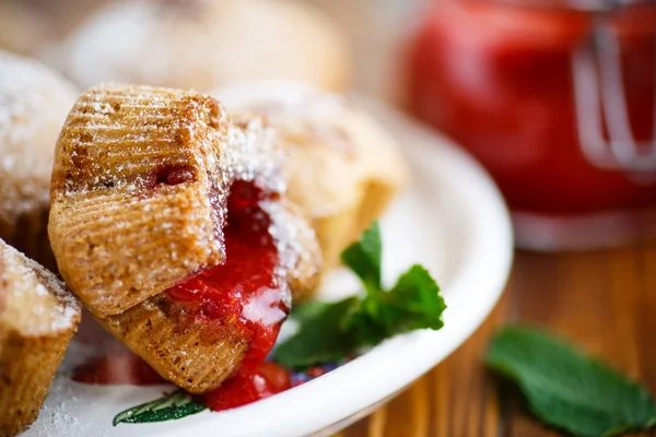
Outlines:
{"type": "MultiPolygon", "coordinates": [[[[289,245],[280,248],[289,257],[282,281],[295,298],[307,295],[316,286],[320,262],[314,233],[295,205],[285,201],[268,206],[279,244],[289,245]]],[[[98,321],[163,378],[192,393],[219,387],[239,366],[251,340],[231,319],[221,326],[198,320],[166,292],[98,321]]]]}

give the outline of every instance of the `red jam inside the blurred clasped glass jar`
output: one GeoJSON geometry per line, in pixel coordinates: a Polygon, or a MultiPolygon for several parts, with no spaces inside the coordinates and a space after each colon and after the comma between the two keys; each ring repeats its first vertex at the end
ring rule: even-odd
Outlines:
{"type": "MultiPolygon", "coordinates": [[[[656,178],[644,177],[654,173],[602,169],[582,152],[572,56],[594,16],[550,4],[436,1],[410,54],[409,109],[471,151],[515,211],[655,204],[656,178]]],[[[613,20],[629,119],[644,143],[654,129],[656,7],[628,7],[613,20]]]]}

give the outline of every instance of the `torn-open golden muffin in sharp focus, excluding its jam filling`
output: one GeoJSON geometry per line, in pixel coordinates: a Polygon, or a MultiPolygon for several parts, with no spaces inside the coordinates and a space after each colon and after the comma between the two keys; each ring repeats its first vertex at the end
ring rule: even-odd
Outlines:
{"type": "Polygon", "coordinates": [[[248,300],[244,314],[209,317],[219,304],[179,291],[210,275],[220,286],[226,233],[246,220],[230,215],[237,182],[235,202],[258,200],[242,209],[266,215],[276,245],[276,302],[289,308],[316,284],[318,244],[283,196],[276,144],[261,120],[234,125],[209,96],[129,85],[87,91],[57,144],[49,233],[61,274],[109,332],[190,392],[235,371],[254,335],[242,319],[261,309],[248,300]]]}

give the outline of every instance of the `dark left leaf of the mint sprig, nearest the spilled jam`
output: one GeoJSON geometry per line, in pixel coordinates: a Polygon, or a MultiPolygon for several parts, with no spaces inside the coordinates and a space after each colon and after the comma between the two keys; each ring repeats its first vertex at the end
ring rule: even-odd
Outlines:
{"type": "Polygon", "coordinates": [[[359,303],[349,297],[337,303],[313,302],[295,310],[298,332],[276,349],[274,361],[285,367],[303,368],[343,359],[354,349],[353,336],[340,329],[359,303]]]}

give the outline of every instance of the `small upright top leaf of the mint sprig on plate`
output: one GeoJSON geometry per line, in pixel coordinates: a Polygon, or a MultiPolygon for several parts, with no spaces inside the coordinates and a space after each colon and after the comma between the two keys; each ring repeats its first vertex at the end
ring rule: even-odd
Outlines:
{"type": "Polygon", "coordinates": [[[382,253],[380,228],[374,222],[362,233],[360,240],[342,251],[341,259],[362,280],[367,291],[379,290],[382,253]]]}

